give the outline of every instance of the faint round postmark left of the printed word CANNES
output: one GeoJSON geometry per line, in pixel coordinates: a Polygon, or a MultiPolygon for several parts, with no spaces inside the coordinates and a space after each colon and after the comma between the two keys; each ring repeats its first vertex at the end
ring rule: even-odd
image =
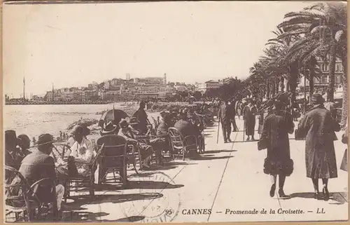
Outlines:
{"type": "Polygon", "coordinates": [[[182,185],[163,172],[143,172],[129,178],[130,189],[123,190],[120,207],[126,218],[145,223],[170,222],[179,214],[182,185]]]}

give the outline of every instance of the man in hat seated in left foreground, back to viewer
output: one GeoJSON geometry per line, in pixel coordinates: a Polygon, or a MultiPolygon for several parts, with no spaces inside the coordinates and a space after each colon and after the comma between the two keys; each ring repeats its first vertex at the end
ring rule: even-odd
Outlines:
{"type": "MultiPolygon", "coordinates": [[[[20,166],[20,173],[25,177],[29,186],[34,184],[40,179],[50,178],[56,180],[55,173],[55,162],[51,156],[53,147],[53,137],[50,134],[43,134],[38,137],[38,142],[36,143],[38,151],[33,151],[33,153],[26,156],[22,165],[20,166]]],[[[36,193],[41,202],[48,201],[50,190],[40,189],[36,193]]],[[[61,203],[64,195],[64,186],[61,184],[56,185],[56,200],[57,200],[57,210],[61,209],[61,203]]],[[[50,202],[50,200],[49,200],[50,202]]]]}

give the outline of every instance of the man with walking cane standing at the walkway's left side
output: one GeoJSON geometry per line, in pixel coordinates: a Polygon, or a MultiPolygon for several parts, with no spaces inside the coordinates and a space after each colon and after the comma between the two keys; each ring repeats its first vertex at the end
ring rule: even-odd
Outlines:
{"type": "Polygon", "coordinates": [[[228,100],[225,100],[220,108],[218,109],[218,119],[221,121],[221,128],[223,129],[223,141],[225,143],[232,142],[231,141],[231,118],[232,118],[232,110],[228,105],[228,100]]]}

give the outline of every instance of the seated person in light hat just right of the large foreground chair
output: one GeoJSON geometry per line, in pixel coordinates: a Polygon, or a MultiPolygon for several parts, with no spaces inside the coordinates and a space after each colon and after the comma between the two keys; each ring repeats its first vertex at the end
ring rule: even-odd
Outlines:
{"type": "Polygon", "coordinates": [[[137,139],[135,139],[134,137],[132,130],[130,129],[129,124],[124,118],[120,120],[119,127],[120,127],[120,130],[118,132],[118,135],[121,137],[124,137],[127,140],[128,144],[132,144],[135,149],[140,149],[141,158],[142,158],[140,159],[142,161],[141,169],[150,168],[151,157],[153,153],[152,146],[137,141],[137,139]]]}

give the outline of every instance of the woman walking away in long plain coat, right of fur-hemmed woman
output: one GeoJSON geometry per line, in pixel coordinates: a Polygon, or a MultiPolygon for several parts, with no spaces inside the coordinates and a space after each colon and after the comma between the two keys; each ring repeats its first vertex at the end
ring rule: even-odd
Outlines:
{"type": "Polygon", "coordinates": [[[331,112],[323,106],[322,95],[312,95],[311,102],[313,107],[300,121],[298,130],[301,137],[306,137],[305,162],[307,177],[311,178],[314,184],[314,198],[320,199],[318,179],[322,179],[323,199],[328,200],[328,179],[337,177],[333,140],[335,131],[339,131],[340,126],[332,117],[331,112]]]}

